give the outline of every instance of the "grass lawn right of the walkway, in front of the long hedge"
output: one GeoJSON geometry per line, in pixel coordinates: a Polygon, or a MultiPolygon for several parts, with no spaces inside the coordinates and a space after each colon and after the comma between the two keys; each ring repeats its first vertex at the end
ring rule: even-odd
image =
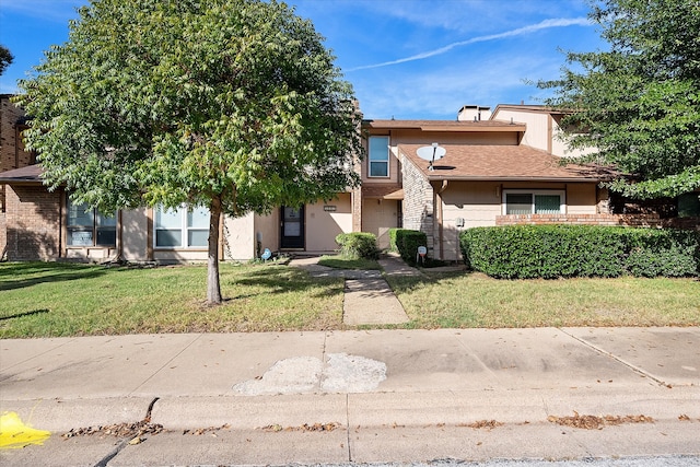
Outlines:
{"type": "Polygon", "coordinates": [[[698,326],[698,279],[495,280],[482,273],[389,278],[412,328],[698,326]]]}

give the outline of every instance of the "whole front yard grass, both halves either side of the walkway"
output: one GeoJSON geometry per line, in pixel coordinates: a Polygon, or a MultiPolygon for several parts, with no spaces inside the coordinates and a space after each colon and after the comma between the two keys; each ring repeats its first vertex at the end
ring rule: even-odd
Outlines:
{"type": "MultiPolygon", "coordinates": [[[[407,328],[698,326],[697,279],[502,281],[389,278],[407,328]]],[[[226,302],[203,305],[205,266],[0,264],[0,338],[345,329],[342,279],[288,266],[221,265],[226,302]]],[[[395,326],[394,326],[395,327],[395,326]]]]}

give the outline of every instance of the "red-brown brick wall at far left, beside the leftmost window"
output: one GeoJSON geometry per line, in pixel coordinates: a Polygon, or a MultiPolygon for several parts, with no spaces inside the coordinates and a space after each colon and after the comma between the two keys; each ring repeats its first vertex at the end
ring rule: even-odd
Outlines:
{"type": "Polygon", "coordinates": [[[7,187],[8,260],[55,260],[60,248],[62,191],[40,185],[7,187]]]}

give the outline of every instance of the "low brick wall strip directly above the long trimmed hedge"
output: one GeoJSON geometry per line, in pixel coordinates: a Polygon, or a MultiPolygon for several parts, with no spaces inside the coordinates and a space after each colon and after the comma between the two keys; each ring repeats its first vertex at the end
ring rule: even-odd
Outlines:
{"type": "Polygon", "coordinates": [[[625,225],[700,230],[700,219],[661,219],[657,214],[509,214],[497,215],[495,225],[625,225]]]}

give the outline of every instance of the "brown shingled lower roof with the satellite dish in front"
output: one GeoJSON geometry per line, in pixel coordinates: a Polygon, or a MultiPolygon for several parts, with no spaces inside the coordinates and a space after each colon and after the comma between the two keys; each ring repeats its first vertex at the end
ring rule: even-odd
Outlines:
{"type": "Polygon", "coordinates": [[[422,145],[399,144],[398,149],[429,180],[600,182],[615,174],[597,165],[562,165],[561,157],[524,144],[443,144],[445,156],[430,171],[430,162],[417,154],[422,145]]]}

